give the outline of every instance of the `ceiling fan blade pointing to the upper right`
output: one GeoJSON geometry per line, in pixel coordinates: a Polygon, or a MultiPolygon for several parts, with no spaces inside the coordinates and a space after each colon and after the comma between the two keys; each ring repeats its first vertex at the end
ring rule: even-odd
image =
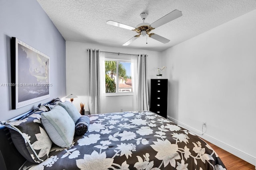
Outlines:
{"type": "Polygon", "coordinates": [[[179,18],[182,16],[182,12],[179,10],[174,10],[172,12],[170,12],[169,14],[167,14],[166,16],[163,16],[162,18],[160,18],[157,21],[154,21],[150,27],[152,28],[157,28],[160,27],[161,25],[164,25],[165,23],[168,23],[172,20],[175,20],[176,18],[179,18]]]}

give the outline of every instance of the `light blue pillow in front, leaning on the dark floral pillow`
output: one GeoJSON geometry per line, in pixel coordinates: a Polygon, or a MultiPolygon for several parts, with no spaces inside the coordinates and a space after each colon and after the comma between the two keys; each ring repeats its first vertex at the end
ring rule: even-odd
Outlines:
{"type": "Polygon", "coordinates": [[[61,106],[55,106],[41,114],[42,124],[53,143],[62,148],[72,145],[75,123],[68,112],[61,106]]]}

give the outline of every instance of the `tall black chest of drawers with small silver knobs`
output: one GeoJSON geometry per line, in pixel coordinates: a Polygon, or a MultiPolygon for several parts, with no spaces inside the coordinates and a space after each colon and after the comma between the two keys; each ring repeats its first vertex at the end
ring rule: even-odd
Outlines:
{"type": "Polygon", "coordinates": [[[151,79],[150,111],[167,118],[168,79],[151,79]]]}

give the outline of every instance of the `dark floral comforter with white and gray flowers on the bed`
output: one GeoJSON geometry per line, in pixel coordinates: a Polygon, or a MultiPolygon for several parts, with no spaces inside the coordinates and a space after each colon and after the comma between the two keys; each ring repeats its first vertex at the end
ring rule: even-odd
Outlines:
{"type": "Polygon", "coordinates": [[[84,136],[70,148],[53,146],[41,164],[24,170],[222,170],[224,164],[198,136],[150,111],[89,115],[84,136]]]}

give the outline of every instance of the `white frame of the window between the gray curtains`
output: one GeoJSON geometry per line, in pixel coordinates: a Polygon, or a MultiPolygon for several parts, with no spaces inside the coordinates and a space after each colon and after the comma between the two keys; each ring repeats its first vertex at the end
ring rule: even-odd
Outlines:
{"type": "MultiPolygon", "coordinates": [[[[134,95],[134,85],[133,85],[133,83],[132,83],[132,92],[119,92],[118,91],[118,88],[119,88],[119,72],[118,72],[119,63],[130,63],[132,65],[132,60],[105,58],[104,62],[105,61],[116,61],[116,92],[114,92],[114,93],[105,93],[106,96],[132,96],[132,95],[134,95]]],[[[132,69],[130,71],[132,73],[132,69]]],[[[105,84],[106,84],[106,82],[105,82],[105,84]]],[[[105,92],[106,92],[106,86],[105,86],[105,92]]]]}

